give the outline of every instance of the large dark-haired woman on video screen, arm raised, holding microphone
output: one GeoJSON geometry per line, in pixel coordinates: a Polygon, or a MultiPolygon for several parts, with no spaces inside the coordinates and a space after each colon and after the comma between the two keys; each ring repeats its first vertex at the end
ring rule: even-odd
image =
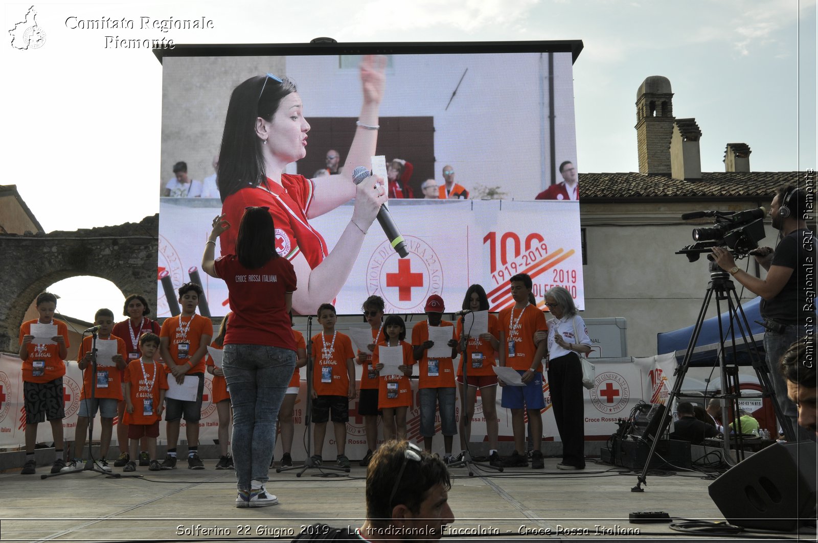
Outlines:
{"type": "MultiPolygon", "coordinates": [[[[295,268],[299,288],[293,310],[308,314],[335,298],[361,250],[363,238],[386,191],[380,178],[353,182],[357,166],[371,168],[384,95],[382,56],[365,56],[361,69],[363,103],[344,168],[332,176],[307,179],[284,173],[307,154],[309,123],[290,79],[255,76],[233,89],[218,159],[222,215],[238,224],[247,206],[266,206],[276,224],[276,251],[295,268]],[[355,199],[353,216],[332,252],[309,219],[355,199]]],[[[340,227],[340,226],[339,226],[340,227]]],[[[222,254],[234,253],[236,235],[222,235],[222,254]]]]}

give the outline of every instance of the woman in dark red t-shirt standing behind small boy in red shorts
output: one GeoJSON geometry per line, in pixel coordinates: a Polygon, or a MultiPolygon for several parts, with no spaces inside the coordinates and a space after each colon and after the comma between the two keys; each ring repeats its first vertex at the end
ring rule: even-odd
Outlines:
{"type": "MultiPolygon", "coordinates": [[[[131,294],[128,298],[125,298],[122,314],[128,318],[116,323],[111,334],[114,334],[125,342],[125,348],[128,350],[128,360],[125,361],[125,365],[127,366],[130,362],[139,360],[139,357],[142,356],[142,350],[139,348],[139,339],[142,337],[142,334],[151,332],[151,334],[159,335],[160,325],[158,322],[151,321],[151,319],[148,318],[148,315],[151,314],[151,306],[148,305],[147,299],[140,294],[131,294]]],[[[156,351],[155,356],[157,361],[161,361],[159,350],[156,351]]],[[[120,374],[120,378],[124,377],[124,375],[125,372],[123,370],[120,374]]],[[[124,380],[122,381],[122,391],[123,393],[125,392],[124,380]]],[[[119,458],[115,460],[114,465],[117,468],[121,468],[125,464],[128,464],[128,460],[132,460],[128,454],[128,424],[124,424],[124,400],[117,403],[116,413],[119,417],[119,423],[116,424],[116,441],[119,443],[119,458]]],[[[134,458],[133,461],[139,465],[150,464],[151,455],[148,454],[147,437],[142,437],[142,441],[139,445],[139,450],[141,451],[139,460],[134,458]]]]}

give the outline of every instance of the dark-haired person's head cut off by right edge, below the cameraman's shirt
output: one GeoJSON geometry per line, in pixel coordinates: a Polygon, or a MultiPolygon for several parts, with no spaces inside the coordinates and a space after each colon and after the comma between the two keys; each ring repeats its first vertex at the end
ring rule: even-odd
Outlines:
{"type": "Polygon", "coordinates": [[[807,351],[815,352],[815,340],[807,336],[798,339],[781,356],[779,370],[787,379],[787,396],[798,406],[798,425],[818,434],[818,382],[814,357],[807,358],[807,351]]]}

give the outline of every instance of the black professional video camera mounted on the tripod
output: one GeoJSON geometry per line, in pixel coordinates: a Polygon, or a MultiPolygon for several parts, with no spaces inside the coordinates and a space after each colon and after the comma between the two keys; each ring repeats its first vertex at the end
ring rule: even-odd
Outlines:
{"type": "Polygon", "coordinates": [[[690,262],[699,260],[699,254],[706,253],[708,258],[713,247],[726,246],[735,258],[744,258],[758,247],[758,241],[764,239],[764,218],[766,209],[748,209],[746,211],[694,211],[681,216],[682,220],[714,217],[712,227],[694,228],[693,245],[686,245],[676,254],[686,254],[690,262]]]}

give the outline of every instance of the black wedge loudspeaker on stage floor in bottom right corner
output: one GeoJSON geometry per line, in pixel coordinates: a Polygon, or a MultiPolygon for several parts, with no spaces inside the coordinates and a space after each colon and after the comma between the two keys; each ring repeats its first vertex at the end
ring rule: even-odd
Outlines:
{"type": "Polygon", "coordinates": [[[790,532],[816,518],[816,443],[774,443],[708,487],[730,524],[790,532]]]}

